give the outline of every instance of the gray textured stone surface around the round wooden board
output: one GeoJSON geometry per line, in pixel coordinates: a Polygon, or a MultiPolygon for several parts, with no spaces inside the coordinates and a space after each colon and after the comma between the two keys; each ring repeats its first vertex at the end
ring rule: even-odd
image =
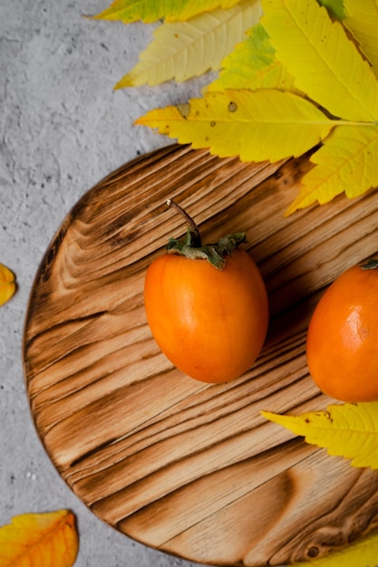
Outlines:
{"type": "Polygon", "coordinates": [[[171,143],[133,120],[199,92],[199,82],[113,91],[152,26],[82,17],[110,4],[0,0],[0,262],[19,284],[0,308],[0,524],[15,514],[71,508],[80,529],[76,567],[189,567],[132,542],[82,505],[44,453],[24,389],[24,314],[54,232],[113,169],[171,143]]]}

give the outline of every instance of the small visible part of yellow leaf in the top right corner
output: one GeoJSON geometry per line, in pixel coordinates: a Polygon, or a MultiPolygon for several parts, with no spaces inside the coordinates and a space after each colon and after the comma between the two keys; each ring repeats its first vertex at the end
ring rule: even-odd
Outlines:
{"type": "Polygon", "coordinates": [[[354,34],[361,51],[378,74],[378,1],[344,0],[345,26],[354,34]]]}

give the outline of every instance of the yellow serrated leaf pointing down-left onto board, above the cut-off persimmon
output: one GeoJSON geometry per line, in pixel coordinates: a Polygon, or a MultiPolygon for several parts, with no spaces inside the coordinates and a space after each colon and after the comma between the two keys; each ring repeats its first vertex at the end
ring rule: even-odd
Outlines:
{"type": "Polygon", "coordinates": [[[378,187],[378,126],[337,126],[311,161],[315,168],[302,178],[286,215],[316,201],[323,205],[343,192],[353,198],[378,187]]]}

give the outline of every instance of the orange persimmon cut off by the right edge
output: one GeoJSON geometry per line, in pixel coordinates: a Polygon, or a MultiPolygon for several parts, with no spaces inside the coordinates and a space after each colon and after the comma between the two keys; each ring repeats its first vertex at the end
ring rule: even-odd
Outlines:
{"type": "Polygon", "coordinates": [[[306,357],[326,395],[345,402],[378,400],[377,305],[378,260],[346,270],[317,303],[306,357]]]}

